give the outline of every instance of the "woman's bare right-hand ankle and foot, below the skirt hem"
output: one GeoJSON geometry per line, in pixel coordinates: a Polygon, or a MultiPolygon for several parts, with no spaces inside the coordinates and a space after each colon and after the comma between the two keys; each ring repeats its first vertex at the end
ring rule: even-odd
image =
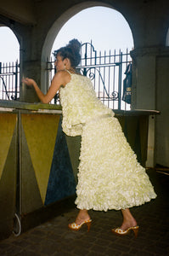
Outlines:
{"type": "Polygon", "coordinates": [[[130,227],[137,226],[137,222],[135,218],[133,218],[132,213],[129,209],[121,209],[123,222],[121,224],[121,230],[127,230],[130,227]]]}

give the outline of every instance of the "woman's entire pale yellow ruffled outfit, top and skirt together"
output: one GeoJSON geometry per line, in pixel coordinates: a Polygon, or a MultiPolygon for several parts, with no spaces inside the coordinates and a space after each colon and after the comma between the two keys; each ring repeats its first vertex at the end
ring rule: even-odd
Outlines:
{"type": "Polygon", "coordinates": [[[155,199],[149,177],[113,111],[99,101],[90,79],[70,76],[70,82],[60,89],[60,102],[63,131],[82,136],[76,207],[106,212],[155,199]]]}

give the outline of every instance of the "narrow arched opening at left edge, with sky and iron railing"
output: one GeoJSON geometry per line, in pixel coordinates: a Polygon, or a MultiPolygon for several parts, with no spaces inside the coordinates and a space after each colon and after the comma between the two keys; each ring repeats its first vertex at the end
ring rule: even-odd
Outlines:
{"type": "Polygon", "coordinates": [[[0,25],[0,99],[17,100],[20,96],[20,44],[14,32],[0,25]]]}

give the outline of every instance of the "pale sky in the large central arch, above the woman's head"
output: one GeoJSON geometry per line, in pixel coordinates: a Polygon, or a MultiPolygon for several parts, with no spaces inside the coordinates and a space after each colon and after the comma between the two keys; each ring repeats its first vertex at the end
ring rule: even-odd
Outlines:
{"type": "Polygon", "coordinates": [[[67,44],[72,38],[82,43],[93,42],[94,49],[132,49],[132,32],[127,20],[115,9],[93,7],[74,15],[57,35],[53,49],[67,44]]]}

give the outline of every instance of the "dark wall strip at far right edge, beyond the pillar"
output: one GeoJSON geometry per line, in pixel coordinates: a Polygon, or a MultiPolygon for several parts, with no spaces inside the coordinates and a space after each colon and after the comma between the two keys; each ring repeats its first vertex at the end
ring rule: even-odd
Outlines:
{"type": "Polygon", "coordinates": [[[157,57],[156,106],[161,115],[156,119],[156,162],[169,166],[169,51],[157,57]]]}

